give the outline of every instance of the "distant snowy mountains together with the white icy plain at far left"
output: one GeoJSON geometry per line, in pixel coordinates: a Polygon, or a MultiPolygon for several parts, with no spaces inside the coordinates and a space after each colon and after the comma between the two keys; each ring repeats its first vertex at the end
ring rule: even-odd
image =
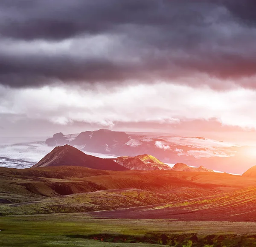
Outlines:
{"type": "Polygon", "coordinates": [[[246,158],[244,162],[244,155],[251,150],[250,148],[223,141],[195,136],[99,129],[70,135],[58,133],[52,138],[41,141],[2,143],[0,144],[0,157],[2,157],[0,166],[31,167],[55,146],[64,144],[100,158],[148,154],[165,164],[183,163],[188,166],[204,166],[207,169],[236,174],[242,174],[256,163],[256,156],[255,158],[252,156],[251,159],[246,158]]]}

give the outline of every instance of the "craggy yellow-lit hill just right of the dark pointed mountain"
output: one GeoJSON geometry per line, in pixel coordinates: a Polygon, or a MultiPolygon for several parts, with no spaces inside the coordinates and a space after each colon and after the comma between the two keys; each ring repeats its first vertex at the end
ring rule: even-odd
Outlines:
{"type": "Polygon", "coordinates": [[[123,156],[116,158],[116,163],[131,170],[171,170],[171,167],[164,164],[152,155],[137,155],[135,157],[123,156]]]}

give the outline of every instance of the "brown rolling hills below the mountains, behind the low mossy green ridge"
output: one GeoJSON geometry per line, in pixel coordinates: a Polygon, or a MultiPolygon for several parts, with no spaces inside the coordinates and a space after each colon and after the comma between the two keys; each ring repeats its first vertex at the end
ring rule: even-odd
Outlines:
{"type": "Polygon", "coordinates": [[[54,197],[132,187],[172,196],[174,200],[184,200],[256,184],[256,178],[213,172],[117,172],[59,166],[30,169],[0,168],[0,180],[4,200],[9,200],[12,195],[23,195],[24,198],[17,198],[12,202],[31,201],[28,196],[54,197]]]}

